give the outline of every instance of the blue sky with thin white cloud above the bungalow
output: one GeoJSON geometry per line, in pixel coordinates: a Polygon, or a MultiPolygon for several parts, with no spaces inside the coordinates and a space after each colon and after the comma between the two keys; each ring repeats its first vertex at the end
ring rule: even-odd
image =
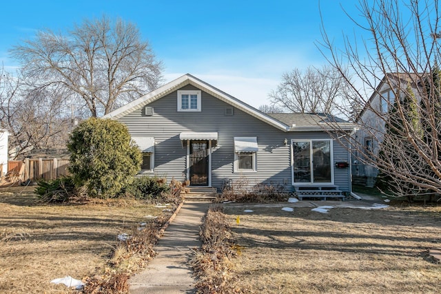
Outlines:
{"type": "MultiPolygon", "coordinates": [[[[327,33],[340,45],[351,34],[345,16],[359,12],[351,0],[321,0],[327,33]]],[[[165,81],[189,73],[258,107],[269,104],[284,72],[325,58],[316,47],[319,1],[6,1],[0,18],[0,62],[13,70],[8,50],[40,29],[68,30],[83,19],[103,14],[135,23],[164,64],[165,81]]]]}

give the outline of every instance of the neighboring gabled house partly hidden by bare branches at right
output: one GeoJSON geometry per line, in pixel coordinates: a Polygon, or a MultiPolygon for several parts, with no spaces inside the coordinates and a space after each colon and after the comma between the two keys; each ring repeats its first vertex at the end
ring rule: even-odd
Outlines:
{"type": "MultiPolygon", "coordinates": [[[[420,75],[419,75],[420,76],[420,75]]],[[[369,101],[356,119],[360,129],[356,133],[357,143],[353,144],[352,173],[356,178],[366,178],[367,186],[373,186],[378,176],[378,169],[369,158],[375,159],[380,151],[384,138],[385,122],[389,109],[396,100],[396,93],[403,92],[407,85],[411,86],[418,98],[418,75],[389,73],[382,78],[369,101]],[[369,164],[369,162],[371,162],[369,164]]]]}

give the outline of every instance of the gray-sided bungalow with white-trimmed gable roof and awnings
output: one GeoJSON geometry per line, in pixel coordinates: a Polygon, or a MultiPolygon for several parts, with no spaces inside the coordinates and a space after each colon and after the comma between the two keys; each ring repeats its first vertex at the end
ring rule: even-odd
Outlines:
{"type": "Polygon", "coordinates": [[[351,191],[349,151],[327,132],[328,116],[264,114],[189,74],[104,118],[127,125],[143,151],[142,174],[218,190],[240,180],[314,194],[351,191]]]}

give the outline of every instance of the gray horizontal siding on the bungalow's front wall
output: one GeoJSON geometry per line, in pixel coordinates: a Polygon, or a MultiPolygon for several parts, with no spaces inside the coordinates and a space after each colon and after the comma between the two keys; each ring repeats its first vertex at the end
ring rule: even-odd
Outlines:
{"type": "MultiPolygon", "coordinates": [[[[180,90],[197,89],[187,85],[180,90]]],[[[233,116],[226,116],[225,108],[232,106],[206,92],[202,92],[202,112],[178,112],[176,91],[148,106],[154,107],[153,116],[145,116],[142,108],[119,118],[119,121],[127,125],[132,136],[155,138],[154,174],[166,176],[169,181],[172,178],[186,180],[187,176],[187,146],[179,139],[181,132],[218,132],[217,144],[212,148],[212,187],[218,189],[223,187],[225,180],[240,179],[250,186],[273,183],[291,191],[291,139],[329,138],[325,132],[283,132],[239,109],[234,109],[233,116]],[[234,137],[257,137],[256,172],[234,173],[234,137]],[[283,142],[285,138],[288,146],[283,142]]],[[[334,152],[338,158],[345,152],[347,154],[337,144],[334,144],[334,152]]],[[[336,158],[334,155],[334,162],[336,158]]],[[[344,171],[338,171],[334,184],[348,191],[349,169],[344,171]]]]}

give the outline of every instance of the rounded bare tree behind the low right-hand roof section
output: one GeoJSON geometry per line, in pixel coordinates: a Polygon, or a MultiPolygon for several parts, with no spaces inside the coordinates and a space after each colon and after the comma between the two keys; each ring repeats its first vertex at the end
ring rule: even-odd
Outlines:
{"type": "Polygon", "coordinates": [[[295,69],[283,74],[282,82],[269,98],[271,103],[290,112],[332,113],[348,118],[351,112],[341,105],[349,94],[347,90],[345,79],[333,67],[308,67],[305,72],[295,69]]]}

